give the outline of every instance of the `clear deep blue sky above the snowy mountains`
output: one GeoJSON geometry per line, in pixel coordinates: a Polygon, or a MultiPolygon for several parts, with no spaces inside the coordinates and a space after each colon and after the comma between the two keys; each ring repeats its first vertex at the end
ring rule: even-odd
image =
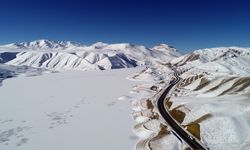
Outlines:
{"type": "Polygon", "coordinates": [[[3,0],[0,44],[37,39],[250,47],[248,0],[3,0]]]}

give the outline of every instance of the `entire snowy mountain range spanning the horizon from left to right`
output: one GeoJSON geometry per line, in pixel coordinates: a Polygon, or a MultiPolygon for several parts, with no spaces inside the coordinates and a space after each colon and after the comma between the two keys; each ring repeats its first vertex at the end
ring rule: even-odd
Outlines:
{"type": "Polygon", "coordinates": [[[229,74],[249,74],[250,48],[218,47],[181,54],[173,46],[37,40],[0,46],[0,63],[53,71],[108,70],[171,63],[229,74]],[[211,67],[213,66],[213,67],[211,67]],[[239,69],[240,68],[240,69],[239,69]]]}

